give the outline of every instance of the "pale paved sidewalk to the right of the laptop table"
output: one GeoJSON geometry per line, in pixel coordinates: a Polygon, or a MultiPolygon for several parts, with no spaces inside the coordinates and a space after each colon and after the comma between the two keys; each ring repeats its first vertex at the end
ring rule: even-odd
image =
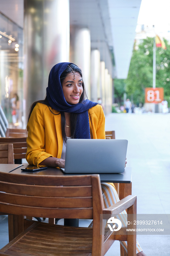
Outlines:
{"type": "MultiPolygon", "coordinates": [[[[127,166],[132,167],[137,214],[170,214],[170,114],[112,113],[105,130],[128,140],[127,166]]],[[[138,235],[138,241],[147,256],[170,255],[170,235],[138,235]]],[[[119,255],[116,241],[106,256],[119,255]]]]}

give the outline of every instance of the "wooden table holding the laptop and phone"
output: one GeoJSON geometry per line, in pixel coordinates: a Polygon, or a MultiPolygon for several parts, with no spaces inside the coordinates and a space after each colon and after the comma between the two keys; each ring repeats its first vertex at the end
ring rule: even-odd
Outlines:
{"type": "MultiPolygon", "coordinates": [[[[21,168],[28,167],[29,165],[9,165],[0,164],[0,172],[11,172],[23,175],[75,175],[63,173],[61,169],[54,167],[48,167],[46,170],[36,172],[23,172],[21,168]]],[[[83,174],[83,173],[81,173],[83,174]]],[[[76,175],[81,175],[77,174],[76,175]]],[[[87,174],[87,173],[86,173],[87,174]]],[[[90,173],[89,173],[90,174],[90,173]]],[[[113,182],[117,189],[120,200],[125,196],[132,194],[132,173],[130,167],[125,167],[124,173],[100,173],[101,182],[113,182]]],[[[22,215],[9,215],[8,216],[8,229],[9,229],[9,241],[18,236],[24,230],[23,216],[22,215]]]]}

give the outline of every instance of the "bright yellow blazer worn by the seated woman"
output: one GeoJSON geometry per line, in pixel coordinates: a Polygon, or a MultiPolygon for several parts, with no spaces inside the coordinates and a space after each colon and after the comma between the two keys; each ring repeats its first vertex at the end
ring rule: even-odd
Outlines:
{"type": "MultiPolygon", "coordinates": [[[[48,157],[61,158],[63,138],[61,132],[61,115],[57,110],[37,103],[27,124],[27,154],[30,165],[39,163],[48,157]]],[[[88,110],[90,135],[93,139],[105,139],[105,116],[101,105],[88,110]]]]}

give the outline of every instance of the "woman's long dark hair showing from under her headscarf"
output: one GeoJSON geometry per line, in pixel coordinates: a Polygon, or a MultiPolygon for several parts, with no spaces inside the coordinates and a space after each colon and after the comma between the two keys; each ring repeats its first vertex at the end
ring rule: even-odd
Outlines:
{"type": "MultiPolygon", "coordinates": [[[[81,69],[79,67],[77,67],[76,65],[74,64],[69,64],[69,66],[73,69],[74,72],[78,72],[80,74],[80,76],[82,77],[82,72],[81,72],[81,69]]],[[[61,85],[63,83],[63,80],[65,79],[65,77],[70,73],[72,72],[72,69],[67,66],[67,68],[62,72],[61,76],[60,76],[60,82],[61,82],[61,85]]],[[[81,103],[86,96],[86,92],[85,92],[85,86],[84,86],[84,82],[82,81],[82,87],[83,87],[83,92],[81,94],[81,97],[80,97],[80,101],[79,103],[81,103]]],[[[30,119],[30,116],[31,116],[31,113],[32,113],[32,110],[34,109],[36,103],[42,103],[42,104],[45,104],[49,107],[50,109],[50,104],[47,100],[47,97],[43,100],[39,100],[39,101],[35,101],[34,103],[32,103],[31,107],[30,107],[30,113],[29,113],[29,116],[28,116],[28,120],[30,119]]],[[[51,113],[52,110],[50,109],[51,113]]],[[[54,114],[54,113],[53,113],[54,114]]],[[[62,130],[62,137],[63,137],[63,141],[64,143],[66,144],[66,132],[65,132],[65,125],[66,125],[66,119],[65,119],[65,115],[63,112],[60,112],[59,114],[61,114],[61,130],[62,130]]],[[[77,113],[70,113],[70,126],[71,126],[71,138],[74,138],[74,133],[75,133],[75,129],[76,129],[76,124],[77,124],[77,113]]]]}

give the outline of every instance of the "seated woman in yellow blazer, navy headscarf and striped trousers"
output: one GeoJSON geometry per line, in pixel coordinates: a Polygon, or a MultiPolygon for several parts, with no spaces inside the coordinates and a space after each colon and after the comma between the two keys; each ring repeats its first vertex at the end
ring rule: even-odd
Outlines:
{"type": "MultiPolygon", "coordinates": [[[[105,139],[103,109],[85,100],[81,69],[73,63],[58,63],[51,69],[46,92],[45,100],[31,106],[26,159],[31,165],[65,167],[68,138],[105,139]]],[[[113,184],[102,183],[101,187],[105,206],[119,201],[113,184]]],[[[126,243],[121,244],[127,250],[126,243]]],[[[145,256],[138,242],[136,253],[145,256]]]]}

